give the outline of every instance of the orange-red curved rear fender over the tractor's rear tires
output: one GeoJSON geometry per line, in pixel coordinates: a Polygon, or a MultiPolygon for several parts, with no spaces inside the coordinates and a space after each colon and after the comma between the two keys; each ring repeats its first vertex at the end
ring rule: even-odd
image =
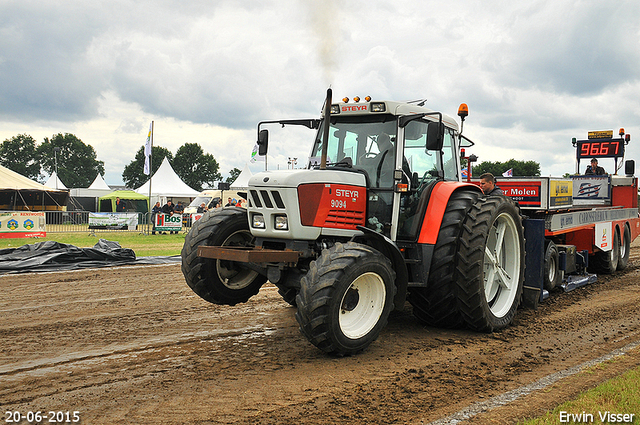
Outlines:
{"type": "Polygon", "coordinates": [[[427,205],[427,211],[420,228],[420,235],[418,236],[418,243],[435,245],[438,240],[442,217],[444,216],[444,211],[447,209],[449,198],[451,198],[453,192],[462,189],[482,193],[480,187],[471,183],[436,183],[429,197],[429,204],[427,205]]]}

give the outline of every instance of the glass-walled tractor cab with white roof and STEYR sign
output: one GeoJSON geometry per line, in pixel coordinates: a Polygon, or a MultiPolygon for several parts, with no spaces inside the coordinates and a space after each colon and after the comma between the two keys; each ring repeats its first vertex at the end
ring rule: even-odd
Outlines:
{"type": "Polygon", "coordinates": [[[365,176],[365,226],[392,240],[415,239],[425,189],[460,179],[457,123],[411,103],[345,101],[333,105],[328,132],[325,124],[319,124],[308,167],[320,167],[328,134],[327,169],[365,176]]]}

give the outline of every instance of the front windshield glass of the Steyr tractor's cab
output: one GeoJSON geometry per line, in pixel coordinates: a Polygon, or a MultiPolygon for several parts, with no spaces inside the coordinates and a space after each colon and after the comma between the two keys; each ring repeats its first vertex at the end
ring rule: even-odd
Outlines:
{"type": "MultiPolygon", "coordinates": [[[[324,123],[311,152],[309,167],[320,164],[324,123]]],[[[331,117],[327,164],[350,162],[369,174],[374,187],[390,187],[395,163],[396,118],[392,115],[331,117]]]]}

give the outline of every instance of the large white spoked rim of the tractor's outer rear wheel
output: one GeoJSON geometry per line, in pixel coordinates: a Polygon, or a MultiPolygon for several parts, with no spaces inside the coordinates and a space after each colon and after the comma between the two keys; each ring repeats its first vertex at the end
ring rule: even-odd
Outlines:
{"type": "Polygon", "coordinates": [[[520,240],[516,223],[502,213],[489,229],[484,252],[484,293],[489,309],[504,317],[513,306],[520,279],[520,240]]]}

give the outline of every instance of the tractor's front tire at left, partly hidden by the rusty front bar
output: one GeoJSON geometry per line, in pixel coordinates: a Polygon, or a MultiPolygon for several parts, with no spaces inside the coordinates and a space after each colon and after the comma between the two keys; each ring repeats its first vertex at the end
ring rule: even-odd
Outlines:
{"type": "Polygon", "coordinates": [[[233,261],[198,257],[199,246],[252,246],[244,208],[218,208],[196,221],[182,247],[182,274],[193,292],[214,304],[236,305],[257,294],[267,278],[233,261]]]}

